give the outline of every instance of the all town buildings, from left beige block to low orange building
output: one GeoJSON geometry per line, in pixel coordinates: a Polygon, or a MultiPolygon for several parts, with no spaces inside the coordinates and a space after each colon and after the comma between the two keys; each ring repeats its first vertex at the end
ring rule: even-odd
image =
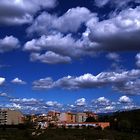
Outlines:
{"type": "Polygon", "coordinates": [[[53,128],[107,128],[109,122],[99,122],[98,115],[93,112],[58,112],[49,111],[46,114],[23,115],[18,110],[1,109],[0,125],[19,125],[31,123],[36,129],[53,128]]]}

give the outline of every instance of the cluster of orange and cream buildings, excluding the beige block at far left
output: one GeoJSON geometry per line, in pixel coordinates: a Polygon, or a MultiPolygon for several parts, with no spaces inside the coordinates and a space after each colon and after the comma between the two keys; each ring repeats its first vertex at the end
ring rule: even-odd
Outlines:
{"type": "Polygon", "coordinates": [[[110,127],[109,122],[98,122],[98,115],[93,112],[57,112],[49,111],[48,114],[42,114],[36,117],[36,122],[39,129],[46,129],[47,127],[58,128],[106,128],[110,127]],[[93,118],[94,121],[86,121],[87,118],[93,118]]]}

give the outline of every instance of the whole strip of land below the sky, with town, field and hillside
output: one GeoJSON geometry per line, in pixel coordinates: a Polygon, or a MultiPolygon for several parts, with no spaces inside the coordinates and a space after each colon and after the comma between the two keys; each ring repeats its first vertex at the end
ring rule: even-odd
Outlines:
{"type": "Polygon", "coordinates": [[[0,140],[139,140],[139,120],[139,109],[112,114],[0,109],[0,140]]]}

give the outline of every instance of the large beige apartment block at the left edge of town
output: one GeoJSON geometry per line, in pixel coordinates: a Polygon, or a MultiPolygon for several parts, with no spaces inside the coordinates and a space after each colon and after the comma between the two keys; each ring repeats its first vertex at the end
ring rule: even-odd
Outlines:
{"type": "Polygon", "coordinates": [[[18,125],[23,123],[23,115],[20,111],[0,109],[0,125],[18,125]]]}

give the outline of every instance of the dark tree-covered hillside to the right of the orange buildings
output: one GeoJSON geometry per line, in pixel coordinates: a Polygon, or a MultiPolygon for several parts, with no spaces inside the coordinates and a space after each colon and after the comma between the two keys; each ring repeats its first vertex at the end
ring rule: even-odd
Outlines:
{"type": "Polygon", "coordinates": [[[99,121],[109,121],[111,129],[125,132],[140,132],[140,110],[116,112],[111,115],[102,115],[99,121]]]}

